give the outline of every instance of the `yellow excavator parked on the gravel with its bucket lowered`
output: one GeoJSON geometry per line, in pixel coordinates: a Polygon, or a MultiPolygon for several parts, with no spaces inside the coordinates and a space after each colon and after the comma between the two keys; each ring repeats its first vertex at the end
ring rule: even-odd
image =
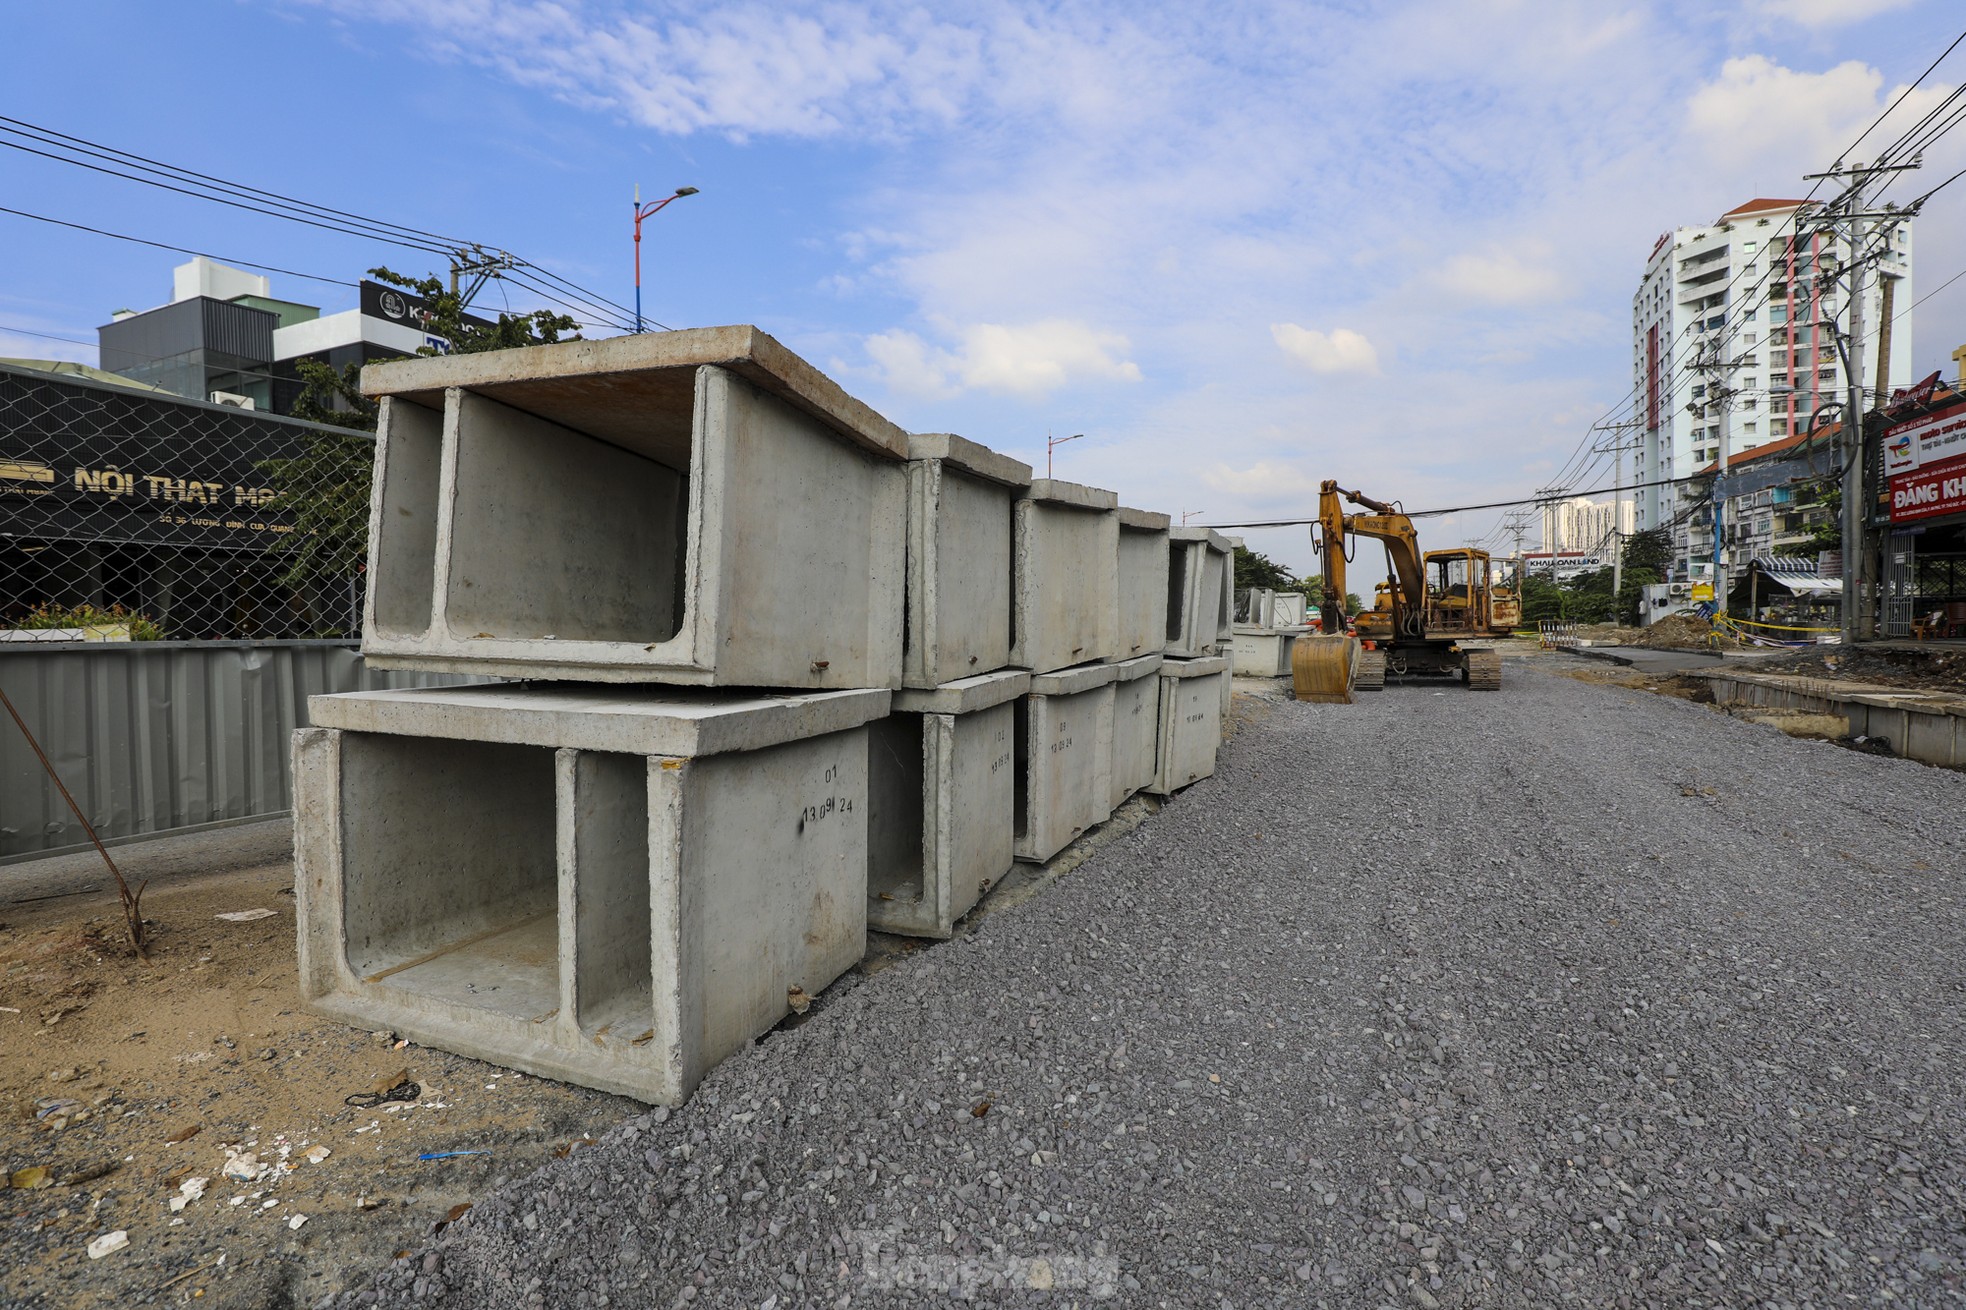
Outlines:
{"type": "Polygon", "coordinates": [[[1317,492],[1311,545],[1323,557],[1325,604],[1319,633],[1296,639],[1290,673],[1298,700],[1351,704],[1355,688],[1384,686],[1386,677],[1461,679],[1473,690],[1502,686],[1500,651],[1465,645],[1508,635],[1522,604],[1496,588],[1486,551],[1419,551],[1414,521],[1396,506],[1325,482],[1317,492]],[[1345,513],[1351,502],[1370,513],[1345,513]],[[1386,547],[1392,576],[1370,612],[1345,614],[1347,543],[1372,537],[1386,547]],[[1374,649],[1366,651],[1364,641],[1374,649]]]}

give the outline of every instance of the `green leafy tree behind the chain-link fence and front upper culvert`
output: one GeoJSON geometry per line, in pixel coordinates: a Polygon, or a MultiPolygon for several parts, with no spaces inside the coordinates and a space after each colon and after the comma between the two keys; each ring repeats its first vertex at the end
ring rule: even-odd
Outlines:
{"type": "MultiPolygon", "coordinates": [[[[478,354],[541,346],[574,332],[580,323],[547,309],[531,315],[499,315],[497,323],[474,323],[462,297],[436,277],[405,277],[387,268],[372,268],[376,281],[413,291],[425,301],[423,328],[450,342],[448,352],[423,346],[417,354],[478,354]]],[[[309,588],[317,582],[352,578],[368,561],[370,480],[376,464],[376,421],[379,407],[362,395],[362,366],[334,370],[320,360],[297,360],[301,395],[293,417],[324,423],[340,431],[313,433],[301,454],[261,460],[260,470],[273,490],[271,509],[293,523],[291,533],[273,537],[285,555],[279,580],[309,588]]]]}

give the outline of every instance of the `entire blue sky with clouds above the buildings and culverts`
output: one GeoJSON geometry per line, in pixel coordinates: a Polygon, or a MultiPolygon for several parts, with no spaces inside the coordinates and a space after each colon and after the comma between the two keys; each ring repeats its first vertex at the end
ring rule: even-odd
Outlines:
{"type": "MultiPolygon", "coordinates": [[[[653,319],[757,323],[904,427],[1040,472],[1046,431],[1085,433],[1058,476],[1229,521],[1300,513],[1325,476],[1410,507],[1551,480],[1632,387],[1655,236],[1803,195],[1966,12],[71,0],[8,20],[0,114],[501,246],[623,303],[631,187],[700,187],[647,228],[653,319]]],[[[1962,69],[1966,47],[1901,114],[1962,69]]],[[[1927,185],[1966,163],[1954,138],[1927,185]]],[[[0,197],[340,279],[429,268],[18,151],[0,197]]],[[[1966,183],[1919,220],[1915,297],[1966,268],[1962,212],[1966,183]]],[[[92,362],[47,336],[169,299],[179,262],[8,214],[0,238],[0,354],[92,362]]],[[[1950,374],[1966,279],[1905,323],[1919,372],[1950,374]]],[[[1246,535],[1313,566],[1300,529],[1246,535]]]]}

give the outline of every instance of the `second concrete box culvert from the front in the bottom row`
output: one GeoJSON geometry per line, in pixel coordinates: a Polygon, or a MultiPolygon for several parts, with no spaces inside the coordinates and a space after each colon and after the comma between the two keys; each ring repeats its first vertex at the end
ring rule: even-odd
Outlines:
{"type": "Polygon", "coordinates": [[[948,938],[1012,865],[1022,669],[895,692],[869,724],[867,926],[948,938]]]}

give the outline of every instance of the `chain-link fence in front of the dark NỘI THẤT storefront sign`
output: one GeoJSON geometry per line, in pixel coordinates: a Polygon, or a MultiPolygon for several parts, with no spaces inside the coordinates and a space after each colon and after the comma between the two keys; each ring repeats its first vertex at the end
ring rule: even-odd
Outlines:
{"type": "Polygon", "coordinates": [[[0,366],[0,641],[358,637],[374,439],[0,366]]]}

